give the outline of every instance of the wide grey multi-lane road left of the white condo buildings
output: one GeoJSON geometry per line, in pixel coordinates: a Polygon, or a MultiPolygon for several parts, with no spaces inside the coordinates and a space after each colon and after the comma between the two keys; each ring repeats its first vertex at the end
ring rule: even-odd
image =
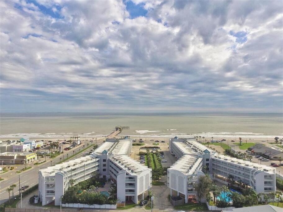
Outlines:
{"type": "MultiPolygon", "coordinates": [[[[91,145],[91,142],[88,141],[83,141],[81,145],[79,145],[78,147],[70,150],[70,151],[64,151],[64,157],[67,157],[67,154],[72,155],[73,154],[73,150],[78,150],[79,148],[81,149],[83,147],[83,144],[87,144],[89,143],[91,145]]],[[[97,140],[97,144],[101,144],[102,140],[97,140]]],[[[94,143],[93,143],[94,144],[94,143]]],[[[86,149],[85,151],[77,154],[77,158],[82,157],[86,154],[88,154],[88,152],[90,151],[91,148],[86,149]]],[[[60,156],[57,156],[56,158],[52,158],[52,164],[56,164],[58,162],[60,162],[60,157],[63,157],[62,154],[60,156]]],[[[73,160],[75,158],[72,157],[70,160],[73,160]]],[[[62,161],[62,160],[61,160],[62,161]]],[[[69,160],[67,160],[69,161],[69,160]]],[[[14,195],[19,194],[19,175],[20,175],[20,184],[21,186],[26,186],[28,185],[29,187],[32,187],[36,184],[38,184],[38,170],[39,169],[43,169],[46,168],[48,166],[51,165],[50,159],[48,159],[45,163],[41,164],[41,165],[33,165],[34,163],[32,163],[32,168],[28,169],[20,174],[16,174],[15,171],[9,171],[7,172],[7,174],[9,173],[10,176],[9,178],[7,177],[3,177],[5,180],[4,181],[0,181],[0,204],[6,202],[9,199],[9,193],[6,191],[7,187],[9,187],[12,184],[16,184],[17,186],[14,188],[14,195]]],[[[4,174],[1,174],[4,175],[4,174]]],[[[12,196],[12,192],[10,192],[10,195],[12,196]]]]}

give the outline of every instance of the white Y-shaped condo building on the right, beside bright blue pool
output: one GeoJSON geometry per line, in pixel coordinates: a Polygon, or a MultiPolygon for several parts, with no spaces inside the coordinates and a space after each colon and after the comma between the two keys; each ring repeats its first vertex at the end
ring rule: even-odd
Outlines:
{"type": "Polygon", "coordinates": [[[167,185],[171,195],[172,190],[177,191],[178,195],[185,197],[185,202],[196,198],[194,184],[198,182],[199,176],[204,175],[204,167],[213,180],[221,183],[228,185],[227,179],[232,178],[236,182],[245,183],[257,193],[276,191],[274,167],[219,155],[194,138],[172,138],[169,150],[178,160],[168,169],[167,185]]]}

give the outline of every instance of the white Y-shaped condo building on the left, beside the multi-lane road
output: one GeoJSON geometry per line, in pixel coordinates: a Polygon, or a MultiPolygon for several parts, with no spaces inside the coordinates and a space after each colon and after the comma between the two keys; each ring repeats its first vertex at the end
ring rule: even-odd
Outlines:
{"type": "Polygon", "coordinates": [[[143,193],[151,187],[151,169],[131,159],[131,153],[132,139],[106,139],[89,156],[39,170],[38,196],[42,205],[52,201],[55,201],[55,205],[60,205],[61,196],[70,186],[87,180],[96,173],[117,185],[117,198],[120,202],[128,198],[137,203],[138,196],[143,198],[143,193]],[[134,166],[127,167],[127,164],[134,166]]]}

